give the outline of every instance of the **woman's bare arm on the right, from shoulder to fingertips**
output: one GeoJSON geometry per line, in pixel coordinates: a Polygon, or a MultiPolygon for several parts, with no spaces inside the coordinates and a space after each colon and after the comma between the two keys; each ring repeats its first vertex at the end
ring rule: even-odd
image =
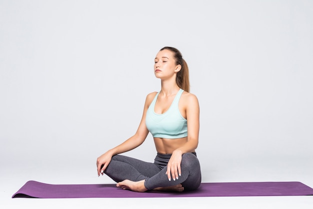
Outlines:
{"type": "Polygon", "coordinates": [[[167,163],[167,177],[168,180],[178,179],[181,174],[180,163],[181,156],[183,153],[192,152],[198,146],[198,137],[199,137],[199,102],[195,95],[188,93],[184,99],[185,110],[186,110],[186,119],[187,119],[187,142],[175,149],[172,152],[172,155],[167,163]]]}

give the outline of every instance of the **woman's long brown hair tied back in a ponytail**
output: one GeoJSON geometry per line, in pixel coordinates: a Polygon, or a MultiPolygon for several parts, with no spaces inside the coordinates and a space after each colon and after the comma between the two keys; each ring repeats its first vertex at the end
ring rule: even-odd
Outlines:
{"type": "Polygon", "coordinates": [[[177,75],[176,75],[176,83],[178,87],[186,92],[189,92],[189,86],[190,86],[189,85],[189,71],[188,71],[188,65],[186,61],[182,59],[182,55],[177,49],[173,47],[163,47],[162,49],[160,49],[160,51],[165,50],[165,49],[174,53],[176,65],[181,66],[180,71],[177,72],[177,75]]]}

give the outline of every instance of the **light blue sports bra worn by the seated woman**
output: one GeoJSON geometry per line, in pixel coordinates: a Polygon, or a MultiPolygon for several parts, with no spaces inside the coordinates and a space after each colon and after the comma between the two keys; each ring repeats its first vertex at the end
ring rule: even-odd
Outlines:
{"type": "Polygon", "coordinates": [[[154,106],[159,92],[155,95],[145,116],[145,125],[153,137],[176,139],[187,136],[187,120],[178,109],[178,102],[183,90],[179,89],[166,112],[156,114],[154,106]]]}

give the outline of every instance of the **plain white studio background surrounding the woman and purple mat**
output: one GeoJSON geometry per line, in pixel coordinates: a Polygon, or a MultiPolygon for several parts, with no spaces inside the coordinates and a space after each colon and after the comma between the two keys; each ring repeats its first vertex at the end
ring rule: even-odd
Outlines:
{"type": "MultiPolygon", "coordinates": [[[[11,199],[26,181],[113,183],[96,157],[136,131],[153,59],[178,48],[200,104],[203,182],[313,187],[312,1],[0,0],[0,205],[306,208],[311,196],[11,199]]],[[[129,156],[152,161],[152,136],[129,156]]]]}

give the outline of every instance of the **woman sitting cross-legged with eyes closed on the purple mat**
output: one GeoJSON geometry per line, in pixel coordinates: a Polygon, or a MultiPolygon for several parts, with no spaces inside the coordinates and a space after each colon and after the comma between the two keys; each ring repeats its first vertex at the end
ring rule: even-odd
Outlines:
{"type": "Polygon", "coordinates": [[[116,186],[132,191],[194,190],[201,182],[195,154],[199,133],[199,104],[188,93],[188,67],[180,52],[162,48],[154,59],[154,74],[161,90],[146,96],[136,133],[97,158],[97,173],[116,186]],[[138,147],[151,132],[157,155],[154,163],[119,155],[138,147]]]}

